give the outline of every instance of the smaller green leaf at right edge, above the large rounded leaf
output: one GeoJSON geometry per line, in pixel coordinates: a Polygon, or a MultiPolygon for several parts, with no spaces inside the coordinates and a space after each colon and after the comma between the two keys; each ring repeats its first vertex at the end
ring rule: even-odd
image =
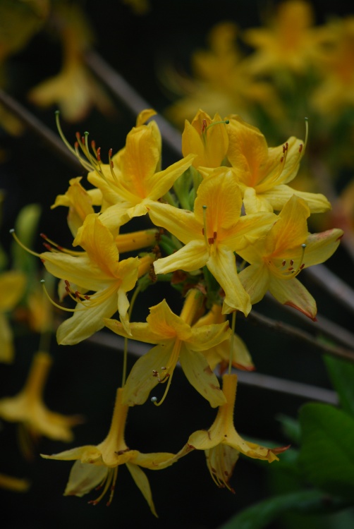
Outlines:
{"type": "Polygon", "coordinates": [[[324,363],[341,407],[354,417],[354,364],[331,355],[324,355],[324,363]]]}

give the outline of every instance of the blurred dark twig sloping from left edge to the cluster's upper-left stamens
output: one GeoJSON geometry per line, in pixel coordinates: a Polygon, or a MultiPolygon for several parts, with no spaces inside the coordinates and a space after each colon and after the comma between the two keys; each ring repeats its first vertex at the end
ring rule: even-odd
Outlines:
{"type": "MultiPolygon", "coordinates": [[[[70,165],[75,171],[83,172],[83,166],[80,164],[78,159],[71,154],[68,148],[63,144],[59,135],[56,135],[50,128],[48,128],[42,121],[36,118],[28,109],[25,109],[22,104],[13,99],[11,96],[6,94],[3,90],[0,90],[0,103],[10,110],[20,121],[28,128],[32,130],[57,156],[64,160],[70,165]]],[[[54,116],[53,116],[54,122],[54,116]]]]}

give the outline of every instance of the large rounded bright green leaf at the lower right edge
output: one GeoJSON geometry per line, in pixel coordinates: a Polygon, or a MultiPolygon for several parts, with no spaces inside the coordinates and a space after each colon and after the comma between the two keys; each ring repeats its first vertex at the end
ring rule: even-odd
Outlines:
{"type": "Polygon", "coordinates": [[[299,466],[305,478],[331,494],[354,498],[354,420],[327,404],[300,410],[299,466]]]}

